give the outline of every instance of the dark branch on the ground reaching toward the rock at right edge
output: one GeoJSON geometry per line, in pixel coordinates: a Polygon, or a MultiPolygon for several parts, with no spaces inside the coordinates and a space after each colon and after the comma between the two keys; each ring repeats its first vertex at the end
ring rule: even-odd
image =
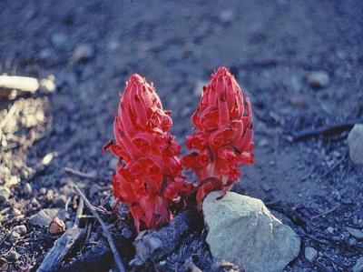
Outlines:
{"type": "Polygon", "coordinates": [[[350,130],[355,124],[363,123],[363,119],[354,119],[343,121],[335,124],[331,124],[328,126],[320,126],[318,128],[307,128],[300,131],[295,131],[292,133],[292,136],[295,141],[303,140],[313,136],[320,135],[332,135],[337,134],[346,130],[350,130]]]}

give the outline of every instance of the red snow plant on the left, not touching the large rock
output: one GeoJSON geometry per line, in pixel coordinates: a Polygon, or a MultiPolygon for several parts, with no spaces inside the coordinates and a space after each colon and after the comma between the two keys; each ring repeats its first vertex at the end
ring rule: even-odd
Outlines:
{"type": "Polygon", "coordinates": [[[162,109],[155,88],[132,75],[121,97],[110,142],[120,158],[113,176],[113,195],[127,203],[136,228],[160,227],[171,219],[172,201],[185,198],[193,186],[184,181],[176,157],[181,146],[168,133],[171,112],[162,109]]]}

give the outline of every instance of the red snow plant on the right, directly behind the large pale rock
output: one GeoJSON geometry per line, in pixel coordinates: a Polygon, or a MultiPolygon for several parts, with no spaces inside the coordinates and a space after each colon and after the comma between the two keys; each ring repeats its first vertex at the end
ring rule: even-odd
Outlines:
{"type": "Polygon", "coordinates": [[[225,68],[219,68],[203,86],[201,101],[192,116],[197,132],[187,136],[183,164],[198,177],[197,202],[211,191],[228,191],[240,178],[238,166],[253,163],[253,131],[250,99],[225,68]]]}

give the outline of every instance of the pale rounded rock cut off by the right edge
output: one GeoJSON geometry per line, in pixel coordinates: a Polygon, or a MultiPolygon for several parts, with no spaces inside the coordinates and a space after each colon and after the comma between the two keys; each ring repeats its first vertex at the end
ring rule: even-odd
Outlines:
{"type": "Polygon", "coordinates": [[[363,124],[356,124],[348,135],[350,159],[356,164],[363,164],[363,124]]]}

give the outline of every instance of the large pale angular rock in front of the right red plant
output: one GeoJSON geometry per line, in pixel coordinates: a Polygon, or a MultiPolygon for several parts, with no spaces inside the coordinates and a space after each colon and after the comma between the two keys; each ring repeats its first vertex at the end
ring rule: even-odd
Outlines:
{"type": "Polygon", "coordinates": [[[272,272],[299,255],[299,237],[260,199],[231,192],[219,196],[212,192],[203,203],[207,243],[216,261],[232,262],[246,272],[272,272]]]}

